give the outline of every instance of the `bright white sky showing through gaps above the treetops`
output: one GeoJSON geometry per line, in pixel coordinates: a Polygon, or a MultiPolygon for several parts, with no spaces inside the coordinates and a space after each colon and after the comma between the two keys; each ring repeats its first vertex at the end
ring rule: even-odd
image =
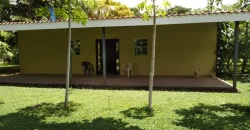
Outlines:
{"type": "MultiPolygon", "coordinates": [[[[114,0],[121,2],[129,7],[135,7],[138,3],[140,3],[142,0],[114,0]]],[[[162,3],[163,0],[156,0],[156,3],[159,5],[162,3]]],[[[207,5],[207,0],[169,0],[172,7],[175,5],[180,5],[187,8],[205,8],[207,5]]],[[[223,4],[233,4],[237,0],[223,0],[223,4]]]]}

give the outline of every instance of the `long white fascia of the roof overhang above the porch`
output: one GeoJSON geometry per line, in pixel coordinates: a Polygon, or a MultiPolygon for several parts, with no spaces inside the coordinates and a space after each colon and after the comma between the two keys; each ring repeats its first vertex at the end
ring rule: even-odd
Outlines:
{"type": "MultiPolygon", "coordinates": [[[[191,24],[191,23],[215,23],[229,21],[250,20],[250,12],[219,12],[206,14],[188,14],[166,17],[157,17],[157,25],[170,24],[191,24]]],[[[89,20],[86,25],[72,22],[72,28],[94,28],[94,27],[124,27],[124,26],[148,26],[152,25],[152,18],[143,21],[142,18],[114,18],[89,20]]],[[[19,30],[44,30],[44,29],[66,29],[68,22],[33,22],[33,23],[2,23],[0,30],[19,31],[19,30]]]]}

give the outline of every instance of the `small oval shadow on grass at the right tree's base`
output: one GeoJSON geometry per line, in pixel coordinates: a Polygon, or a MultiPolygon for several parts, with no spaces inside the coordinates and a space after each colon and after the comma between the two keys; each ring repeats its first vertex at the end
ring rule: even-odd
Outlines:
{"type": "Polygon", "coordinates": [[[141,108],[130,108],[125,111],[121,111],[121,113],[129,118],[134,119],[144,119],[147,117],[153,117],[154,116],[154,110],[148,109],[148,107],[141,107],[141,108]]]}

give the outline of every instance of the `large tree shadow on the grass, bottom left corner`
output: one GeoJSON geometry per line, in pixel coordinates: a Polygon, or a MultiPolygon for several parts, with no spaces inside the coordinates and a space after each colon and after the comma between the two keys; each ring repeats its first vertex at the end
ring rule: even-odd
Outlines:
{"type": "MultiPolygon", "coordinates": [[[[42,103],[36,106],[28,106],[20,109],[16,113],[0,116],[0,129],[2,130],[142,130],[138,126],[131,126],[121,119],[96,118],[93,120],[83,120],[78,122],[48,122],[50,117],[70,118],[74,111],[77,111],[79,104],[70,103],[69,109],[63,109],[63,103],[51,104],[42,103]]],[[[61,120],[61,119],[60,119],[61,120]]]]}

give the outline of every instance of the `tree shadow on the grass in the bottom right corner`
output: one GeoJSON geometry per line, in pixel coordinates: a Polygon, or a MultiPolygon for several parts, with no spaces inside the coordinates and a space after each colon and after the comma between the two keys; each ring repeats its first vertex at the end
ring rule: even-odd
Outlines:
{"type": "Polygon", "coordinates": [[[189,129],[249,129],[250,106],[199,104],[190,109],[175,111],[182,119],[174,124],[189,129]]]}

